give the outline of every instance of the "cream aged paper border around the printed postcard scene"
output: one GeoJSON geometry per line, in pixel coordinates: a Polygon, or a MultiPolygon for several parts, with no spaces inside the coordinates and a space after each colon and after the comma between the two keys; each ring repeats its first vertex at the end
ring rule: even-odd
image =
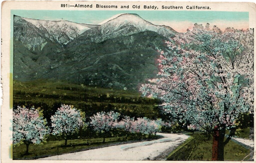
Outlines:
{"type": "MultiPolygon", "coordinates": [[[[164,2],[164,1],[72,1],[72,4],[74,3],[88,3],[88,4],[96,4],[100,3],[102,5],[109,5],[109,4],[120,4],[120,5],[128,5],[128,4],[135,4],[135,5],[144,5],[147,3],[150,3],[151,5],[161,5],[169,4],[169,5],[202,5],[202,6],[211,6],[211,11],[237,11],[237,12],[249,12],[249,27],[254,28],[256,27],[256,5],[254,3],[246,3],[246,2],[164,2]]],[[[56,7],[59,6],[61,3],[71,3],[70,1],[3,1],[1,5],[2,9],[2,19],[1,19],[1,35],[2,35],[2,45],[1,45],[1,73],[2,73],[2,89],[3,89],[3,103],[1,106],[1,161],[2,162],[30,162],[34,160],[12,160],[10,158],[10,147],[12,144],[12,108],[10,108],[10,88],[12,88],[12,84],[10,81],[10,78],[12,78],[12,74],[10,73],[10,42],[12,41],[10,38],[10,19],[11,9],[24,9],[24,10],[83,10],[83,9],[74,9],[74,8],[60,8],[56,7]],[[33,6],[33,8],[31,7],[33,6]]],[[[86,8],[86,10],[95,10],[95,8],[86,8]]],[[[120,8],[116,9],[97,9],[97,10],[121,10],[120,8]]],[[[141,9],[133,9],[133,10],[141,10],[141,9]]],[[[147,9],[147,10],[153,10],[153,9],[147,9]]],[[[162,9],[164,10],[164,9],[162,9]]],[[[168,10],[168,9],[166,9],[168,10]]],[[[177,10],[177,9],[173,9],[177,10]]],[[[188,10],[188,9],[183,9],[188,10]]],[[[124,10],[125,11],[125,10],[124,10]]],[[[190,10],[191,11],[191,10],[190,10]]],[[[197,10],[200,11],[200,10],[197,10]]],[[[255,30],[254,30],[254,39],[255,39],[255,30]]],[[[254,41],[254,47],[256,43],[254,41]]],[[[254,48],[254,53],[255,53],[254,48]]],[[[254,69],[255,69],[254,65],[254,69]]],[[[254,81],[255,81],[255,74],[254,74],[254,81]]],[[[255,88],[255,83],[254,83],[255,88]]],[[[255,91],[254,91],[254,101],[255,101],[255,91]]],[[[255,104],[254,104],[254,114],[255,114],[255,104]]],[[[254,138],[255,138],[255,120],[256,117],[254,116],[254,138]]],[[[255,147],[255,141],[254,141],[254,147],[255,147]]],[[[255,149],[254,149],[254,159],[255,159],[255,149]]],[[[38,162],[70,162],[72,160],[37,160],[38,162]]],[[[72,162],[141,162],[141,161],[72,161],[72,162]]],[[[159,161],[143,161],[143,162],[159,162],[159,161]]],[[[183,162],[183,161],[168,161],[168,162],[183,162]]],[[[206,161],[186,161],[186,162],[206,162],[206,161]]],[[[215,161],[207,161],[207,162],[215,162],[215,161]]],[[[241,161],[220,161],[220,162],[241,162],[241,161]]],[[[253,161],[247,161],[247,162],[253,162],[253,161]]]]}

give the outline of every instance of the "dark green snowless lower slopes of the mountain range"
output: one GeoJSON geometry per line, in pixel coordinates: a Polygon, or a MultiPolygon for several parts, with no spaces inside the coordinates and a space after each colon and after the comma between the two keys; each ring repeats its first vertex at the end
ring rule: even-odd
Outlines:
{"type": "Polygon", "coordinates": [[[42,50],[14,41],[14,80],[59,79],[104,88],[137,89],[158,72],[156,47],[167,38],[152,31],[100,43],[60,47],[48,42],[42,50]]]}

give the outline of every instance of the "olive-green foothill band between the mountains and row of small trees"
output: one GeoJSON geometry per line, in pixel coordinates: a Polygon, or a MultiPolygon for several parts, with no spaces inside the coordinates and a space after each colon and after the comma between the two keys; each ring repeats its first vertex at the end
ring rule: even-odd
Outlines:
{"type": "Polygon", "coordinates": [[[111,110],[135,117],[155,119],[161,116],[157,99],[141,97],[131,90],[116,91],[49,80],[14,81],[13,90],[14,109],[23,105],[41,107],[48,122],[61,104],[74,105],[84,111],[87,117],[111,110]]]}

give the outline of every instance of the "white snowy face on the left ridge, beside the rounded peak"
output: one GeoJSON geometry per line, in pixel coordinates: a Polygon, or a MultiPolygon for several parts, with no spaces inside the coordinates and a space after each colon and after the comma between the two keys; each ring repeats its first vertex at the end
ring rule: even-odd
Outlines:
{"type": "Polygon", "coordinates": [[[22,19],[35,25],[40,30],[46,30],[52,36],[51,40],[55,39],[60,44],[67,44],[84,31],[90,29],[87,27],[87,24],[73,23],[70,21],[37,20],[23,17],[22,19]]]}

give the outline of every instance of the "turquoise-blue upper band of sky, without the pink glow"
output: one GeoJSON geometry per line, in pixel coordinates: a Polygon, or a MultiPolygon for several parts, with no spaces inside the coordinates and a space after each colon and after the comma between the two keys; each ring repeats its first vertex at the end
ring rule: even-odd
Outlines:
{"type": "Polygon", "coordinates": [[[120,13],[134,13],[147,21],[249,21],[248,12],[218,11],[106,11],[106,10],[12,10],[12,14],[47,20],[69,20],[76,23],[97,24],[120,13]]]}

